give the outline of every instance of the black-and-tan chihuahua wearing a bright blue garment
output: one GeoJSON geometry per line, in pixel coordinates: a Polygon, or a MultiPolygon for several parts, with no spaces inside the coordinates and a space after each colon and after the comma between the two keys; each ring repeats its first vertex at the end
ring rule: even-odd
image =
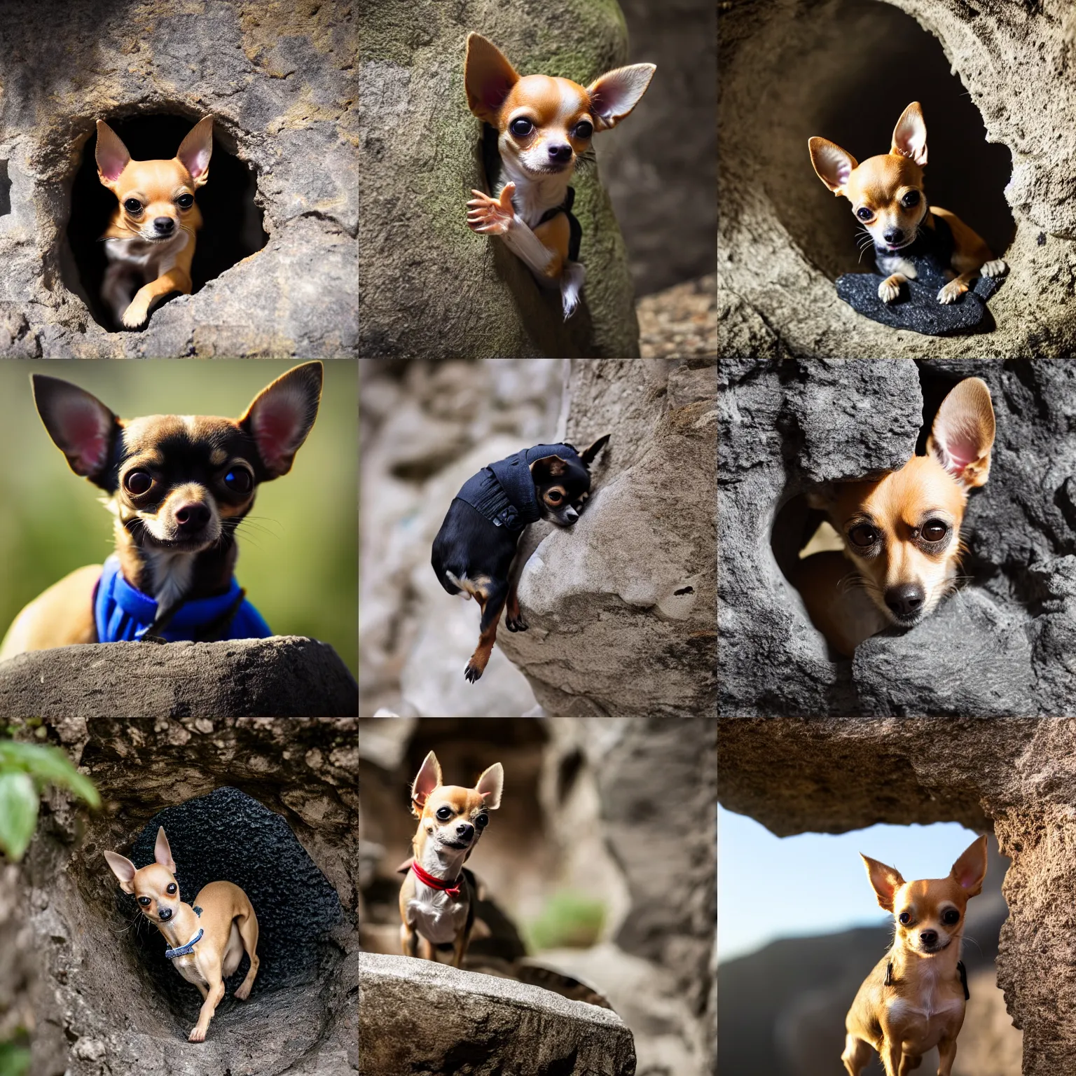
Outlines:
{"type": "Polygon", "coordinates": [[[26,606],[0,660],[76,642],[272,635],[232,576],[236,528],[258,483],[292,469],[317,414],[322,364],[288,370],[239,419],[123,421],[70,382],[31,381],[48,436],[104,491],[116,551],[103,569],[79,568],[26,606]]]}

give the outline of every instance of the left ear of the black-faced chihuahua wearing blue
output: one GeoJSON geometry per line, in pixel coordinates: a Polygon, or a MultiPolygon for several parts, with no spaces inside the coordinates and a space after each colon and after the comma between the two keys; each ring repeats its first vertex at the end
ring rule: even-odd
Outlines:
{"type": "Polygon", "coordinates": [[[38,414],[71,470],[111,492],[109,463],[122,431],[119,420],[96,396],[70,381],[32,373],[30,383],[38,414]]]}

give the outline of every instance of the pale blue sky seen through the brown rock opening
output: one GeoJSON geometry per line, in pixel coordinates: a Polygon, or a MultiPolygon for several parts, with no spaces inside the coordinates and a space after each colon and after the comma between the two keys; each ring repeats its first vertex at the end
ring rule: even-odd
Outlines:
{"type": "Polygon", "coordinates": [[[945,877],[976,838],[955,822],[873,825],[851,833],[775,837],[718,807],[718,960],[780,937],[886,923],[860,852],[905,878],[945,877]]]}

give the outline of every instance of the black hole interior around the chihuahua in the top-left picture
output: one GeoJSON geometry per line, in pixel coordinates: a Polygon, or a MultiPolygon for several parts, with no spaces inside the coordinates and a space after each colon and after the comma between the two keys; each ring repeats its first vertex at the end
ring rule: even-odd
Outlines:
{"type": "MultiPolygon", "coordinates": [[[[169,115],[102,118],[119,136],[134,160],[170,160],[195,123],[183,116],[169,115]]],[[[95,130],[83,147],[82,164],[71,189],[67,238],[73,265],[66,261],[62,279],[67,287],[89,307],[94,321],[115,331],[118,326],[112,312],[101,301],[101,281],[108,265],[101,235],[109,226],[117,203],[112,192],[98,179],[96,150],[95,130]]],[[[196,237],[190,267],[195,292],[237,261],[261,250],[269,241],[261,226],[263,212],[254,203],[256,192],[257,181],[251,167],[229,153],[221,138],[214,134],[209,180],[196,195],[202,226],[196,237]]]]}

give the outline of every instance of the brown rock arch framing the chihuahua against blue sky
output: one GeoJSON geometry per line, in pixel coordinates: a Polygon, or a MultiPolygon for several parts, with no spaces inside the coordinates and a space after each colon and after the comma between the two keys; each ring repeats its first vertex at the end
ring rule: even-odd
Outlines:
{"type": "Polygon", "coordinates": [[[719,737],[721,803],[780,836],[876,822],[992,827],[1013,861],[997,982],[1023,1031],[1023,1076],[1071,1067],[1076,722],[725,720],[719,737]]]}

